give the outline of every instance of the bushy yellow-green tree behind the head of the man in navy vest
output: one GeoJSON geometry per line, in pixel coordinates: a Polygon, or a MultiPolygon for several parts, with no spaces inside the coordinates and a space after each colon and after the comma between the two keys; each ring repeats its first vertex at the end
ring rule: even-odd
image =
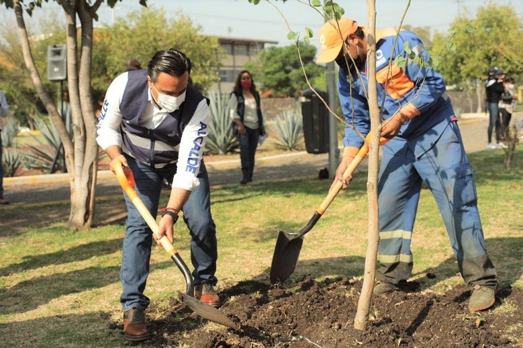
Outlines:
{"type": "Polygon", "coordinates": [[[92,74],[95,91],[105,91],[111,80],[126,70],[129,59],[137,59],[146,68],[154,53],[165,48],[187,54],[192,62],[192,83],[206,90],[219,79],[221,48],[217,37],[204,36],[201,30],[181,13],[167,18],[163,8],[154,7],[132,11],[114,25],[97,29],[92,74]]]}

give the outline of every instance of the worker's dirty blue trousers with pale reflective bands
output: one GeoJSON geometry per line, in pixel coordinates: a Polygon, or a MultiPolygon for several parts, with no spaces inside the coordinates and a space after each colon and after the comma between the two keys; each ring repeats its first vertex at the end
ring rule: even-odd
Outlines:
{"type": "Polygon", "coordinates": [[[411,274],[411,231],[425,182],[436,199],[465,282],[496,286],[472,174],[456,122],[450,122],[436,144],[419,158],[404,141],[393,139],[384,145],[378,182],[378,280],[397,285],[411,274]]]}

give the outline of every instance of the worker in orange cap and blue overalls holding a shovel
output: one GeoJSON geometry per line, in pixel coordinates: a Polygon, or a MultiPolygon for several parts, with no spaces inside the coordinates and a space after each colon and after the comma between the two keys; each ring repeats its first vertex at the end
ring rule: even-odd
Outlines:
{"type": "MultiPolygon", "coordinates": [[[[393,46],[396,33],[396,29],[376,32],[378,105],[385,98],[381,135],[391,140],[383,145],[378,182],[380,243],[374,294],[401,289],[411,274],[412,230],[419,192],[425,182],[445,221],[461,275],[472,286],[469,310],[490,308],[495,302],[497,273],[487,255],[473,169],[463,148],[445,81],[434,69],[408,60],[406,42],[416,55],[429,60],[419,37],[401,30],[393,46]],[[392,60],[397,55],[405,57],[406,65],[402,68],[392,61],[389,67],[391,54],[392,60]]],[[[354,120],[356,129],[367,135],[370,119],[365,92],[365,28],[350,18],[342,18],[327,22],[319,38],[321,52],[316,63],[338,63],[339,100],[346,122],[351,124],[354,120]]],[[[362,144],[361,137],[346,127],[345,148],[334,181],[342,181],[344,188],[351,177],[344,180],[343,172],[362,144]]]]}

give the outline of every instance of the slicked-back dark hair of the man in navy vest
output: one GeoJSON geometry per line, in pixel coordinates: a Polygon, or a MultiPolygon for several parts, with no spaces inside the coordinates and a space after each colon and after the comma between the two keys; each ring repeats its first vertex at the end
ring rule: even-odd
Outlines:
{"type": "Polygon", "coordinates": [[[160,73],[178,77],[185,74],[186,71],[190,74],[191,61],[183,52],[175,49],[156,52],[147,65],[147,75],[153,82],[156,82],[160,73]]]}

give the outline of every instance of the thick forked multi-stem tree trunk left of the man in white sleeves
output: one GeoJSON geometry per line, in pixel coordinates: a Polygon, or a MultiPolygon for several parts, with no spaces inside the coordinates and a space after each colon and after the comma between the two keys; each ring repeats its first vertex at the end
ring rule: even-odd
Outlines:
{"type": "Polygon", "coordinates": [[[101,0],[97,0],[93,6],[89,6],[85,0],[58,0],[57,2],[63,7],[67,22],[67,85],[71,100],[74,143],[36,69],[25,27],[23,9],[19,0],[15,0],[14,9],[25,64],[40,99],[43,101],[54,126],[59,131],[60,140],[64,146],[71,186],[71,212],[68,224],[71,228],[79,229],[90,227],[94,216],[98,145],[96,144],[96,118],[90,94],[90,62],[93,44],[93,18],[101,0]],[[76,42],[77,14],[82,22],[82,50],[79,68],[76,42]]]}

